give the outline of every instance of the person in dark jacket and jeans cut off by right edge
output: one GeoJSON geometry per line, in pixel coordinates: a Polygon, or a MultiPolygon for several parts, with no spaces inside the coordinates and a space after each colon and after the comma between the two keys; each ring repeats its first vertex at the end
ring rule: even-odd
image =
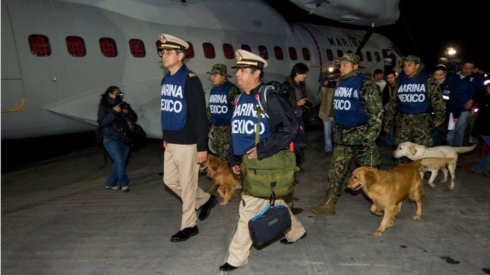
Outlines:
{"type": "MultiPolygon", "coordinates": [[[[474,99],[478,104],[478,115],[476,115],[471,135],[474,137],[480,135],[486,145],[490,147],[490,124],[488,124],[488,121],[490,121],[490,78],[486,79],[484,84],[485,91],[478,93],[474,99]]],[[[490,152],[486,153],[486,156],[476,163],[472,170],[490,177],[490,152]]]]}

